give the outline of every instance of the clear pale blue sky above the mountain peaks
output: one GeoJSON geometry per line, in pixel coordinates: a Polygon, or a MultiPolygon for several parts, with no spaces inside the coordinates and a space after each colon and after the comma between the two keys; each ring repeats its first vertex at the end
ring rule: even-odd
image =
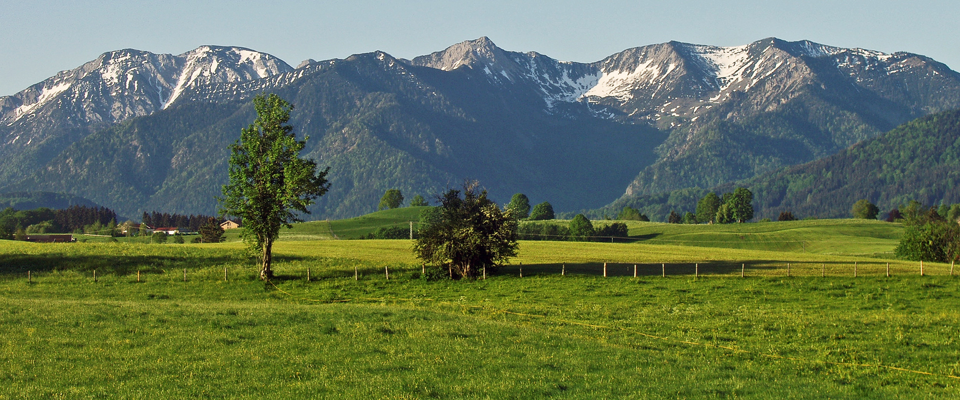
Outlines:
{"type": "Polygon", "coordinates": [[[595,61],[680,40],[764,37],[908,51],[960,67],[956,0],[87,1],[0,0],[0,96],[102,53],[242,46],[296,66],[383,50],[413,58],[482,35],[512,51],[595,61]]]}

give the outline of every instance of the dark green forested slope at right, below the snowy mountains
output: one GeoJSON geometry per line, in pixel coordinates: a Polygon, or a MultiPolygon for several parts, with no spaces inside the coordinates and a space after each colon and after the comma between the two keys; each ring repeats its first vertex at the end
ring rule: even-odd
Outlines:
{"type": "Polygon", "coordinates": [[[744,186],[754,193],[756,219],[790,211],[798,218],[848,218],[857,200],[885,212],[917,200],[925,205],[960,202],[960,110],[928,115],[816,161],[781,168],[709,189],[690,188],[624,197],[589,212],[616,215],[632,206],[652,221],[670,211],[694,211],[708,192],[744,186]]]}

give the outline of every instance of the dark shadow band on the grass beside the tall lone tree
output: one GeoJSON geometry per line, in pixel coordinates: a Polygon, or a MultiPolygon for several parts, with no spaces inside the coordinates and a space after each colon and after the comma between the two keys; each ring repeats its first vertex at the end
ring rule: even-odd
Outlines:
{"type": "MultiPolygon", "coordinates": [[[[275,255],[276,263],[302,261],[304,257],[275,255]]],[[[250,257],[238,254],[178,254],[178,255],[119,255],[119,254],[5,254],[0,256],[0,274],[18,274],[27,271],[94,271],[127,275],[164,270],[219,267],[225,264],[252,264],[250,257]]]]}

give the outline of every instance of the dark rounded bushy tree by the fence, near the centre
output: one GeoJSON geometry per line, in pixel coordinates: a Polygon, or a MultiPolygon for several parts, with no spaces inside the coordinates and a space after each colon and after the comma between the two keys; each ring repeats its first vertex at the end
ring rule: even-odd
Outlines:
{"type": "Polygon", "coordinates": [[[466,182],[463,192],[451,189],[439,207],[420,213],[420,238],[414,243],[418,258],[476,278],[484,268],[516,256],[516,216],[509,208],[501,211],[478,186],[466,182]]]}

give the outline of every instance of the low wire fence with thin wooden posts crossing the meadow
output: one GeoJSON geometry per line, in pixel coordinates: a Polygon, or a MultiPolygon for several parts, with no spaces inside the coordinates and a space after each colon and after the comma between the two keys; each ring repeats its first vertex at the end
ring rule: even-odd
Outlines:
{"type": "MultiPolygon", "coordinates": [[[[955,271],[955,263],[924,263],[924,262],[885,262],[885,261],[867,261],[867,262],[771,262],[751,260],[747,262],[731,261],[708,261],[708,262],[671,262],[671,263],[548,263],[548,264],[512,264],[499,266],[488,271],[482,269],[477,271],[478,279],[490,278],[530,278],[546,276],[597,276],[605,278],[670,278],[670,277],[693,277],[693,278],[750,278],[750,277],[845,277],[845,278],[867,278],[867,277],[897,277],[897,276],[954,276],[960,273],[955,271]]],[[[22,271],[22,270],[21,270],[22,271]]],[[[165,281],[184,282],[191,280],[224,280],[241,279],[252,280],[258,278],[258,269],[255,267],[223,267],[223,270],[201,268],[201,269],[183,269],[180,270],[142,270],[136,271],[135,282],[143,282],[148,276],[165,281]],[[182,273],[182,279],[180,279],[182,273]]],[[[114,279],[132,279],[132,270],[129,273],[103,273],[98,276],[97,270],[92,271],[73,271],[84,278],[92,281],[103,279],[106,275],[113,276],[114,279]]],[[[43,276],[63,276],[64,271],[26,271],[26,278],[29,283],[43,276]]],[[[429,276],[431,279],[444,278],[459,279],[457,272],[449,267],[437,267],[411,265],[411,264],[384,264],[376,266],[372,263],[355,264],[352,271],[343,268],[324,268],[324,266],[310,267],[300,264],[297,267],[279,267],[276,269],[276,279],[278,281],[288,280],[313,280],[324,279],[343,279],[352,278],[353,280],[398,280],[398,279],[420,279],[429,276]],[[429,272],[429,273],[428,273],[429,272]]],[[[8,275],[9,277],[9,275],[8,275]]]]}

